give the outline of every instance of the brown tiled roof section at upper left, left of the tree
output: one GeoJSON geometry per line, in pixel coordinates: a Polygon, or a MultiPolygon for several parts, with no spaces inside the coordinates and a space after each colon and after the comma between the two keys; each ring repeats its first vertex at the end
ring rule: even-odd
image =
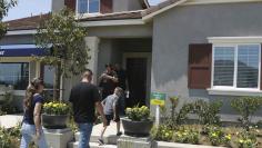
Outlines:
{"type": "Polygon", "coordinates": [[[21,18],[17,20],[6,21],[8,24],[8,30],[29,30],[37,29],[41,20],[46,20],[50,17],[50,13],[33,16],[28,18],[21,18]]]}

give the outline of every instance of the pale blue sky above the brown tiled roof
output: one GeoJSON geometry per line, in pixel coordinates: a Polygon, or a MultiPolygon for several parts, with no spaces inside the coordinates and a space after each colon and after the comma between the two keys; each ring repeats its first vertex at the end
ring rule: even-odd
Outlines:
{"type": "MultiPolygon", "coordinates": [[[[154,6],[162,0],[149,0],[154,6]]],[[[51,0],[18,0],[18,4],[10,9],[3,21],[37,16],[51,11],[51,0]]]]}

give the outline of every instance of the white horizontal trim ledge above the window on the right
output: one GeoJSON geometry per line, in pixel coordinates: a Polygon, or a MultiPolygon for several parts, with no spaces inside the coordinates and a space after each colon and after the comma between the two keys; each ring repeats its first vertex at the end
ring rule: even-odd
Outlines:
{"type": "Polygon", "coordinates": [[[208,37],[210,43],[261,43],[262,37],[208,37]]]}

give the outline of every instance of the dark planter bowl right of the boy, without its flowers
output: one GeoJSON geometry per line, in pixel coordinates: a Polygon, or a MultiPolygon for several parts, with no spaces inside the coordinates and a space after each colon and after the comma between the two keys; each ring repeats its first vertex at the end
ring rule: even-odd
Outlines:
{"type": "Polygon", "coordinates": [[[123,118],[122,125],[124,129],[124,135],[133,137],[147,137],[150,135],[150,130],[153,127],[153,121],[132,121],[128,118],[123,118]]]}

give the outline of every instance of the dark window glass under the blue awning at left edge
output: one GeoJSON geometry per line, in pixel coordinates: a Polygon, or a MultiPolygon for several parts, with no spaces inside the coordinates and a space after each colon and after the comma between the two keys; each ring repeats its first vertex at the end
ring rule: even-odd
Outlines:
{"type": "Polygon", "coordinates": [[[13,86],[17,90],[26,90],[29,83],[29,63],[0,63],[0,85],[13,86]],[[4,69],[4,70],[3,70],[4,69]]]}

